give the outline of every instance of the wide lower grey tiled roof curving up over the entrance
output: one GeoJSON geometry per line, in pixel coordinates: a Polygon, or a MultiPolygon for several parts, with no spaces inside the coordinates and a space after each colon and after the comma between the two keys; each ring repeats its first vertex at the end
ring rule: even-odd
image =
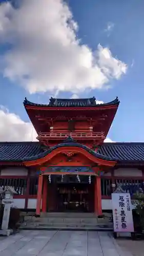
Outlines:
{"type": "Polygon", "coordinates": [[[33,160],[49,154],[57,147],[68,145],[83,147],[95,157],[105,160],[117,160],[122,163],[141,162],[144,164],[144,143],[135,142],[104,143],[99,147],[97,153],[75,142],[64,142],[49,150],[44,150],[39,142],[0,142],[0,162],[33,160]]]}

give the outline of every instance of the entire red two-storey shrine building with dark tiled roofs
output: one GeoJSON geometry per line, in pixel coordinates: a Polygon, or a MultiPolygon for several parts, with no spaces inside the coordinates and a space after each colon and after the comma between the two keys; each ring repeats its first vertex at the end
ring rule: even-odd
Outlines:
{"type": "MultiPolygon", "coordinates": [[[[40,212],[112,210],[117,185],[133,195],[144,184],[144,143],[104,140],[119,100],[24,100],[37,142],[0,142],[0,186],[12,186],[15,207],[40,212]]],[[[126,131],[128,132],[128,131],[126,131]]]]}

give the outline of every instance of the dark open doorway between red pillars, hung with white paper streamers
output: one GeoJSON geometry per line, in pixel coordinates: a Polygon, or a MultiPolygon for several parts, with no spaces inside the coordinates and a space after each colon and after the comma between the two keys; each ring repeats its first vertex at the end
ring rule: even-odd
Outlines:
{"type": "Polygon", "coordinates": [[[93,212],[93,175],[49,175],[47,179],[47,211],[93,212]]]}

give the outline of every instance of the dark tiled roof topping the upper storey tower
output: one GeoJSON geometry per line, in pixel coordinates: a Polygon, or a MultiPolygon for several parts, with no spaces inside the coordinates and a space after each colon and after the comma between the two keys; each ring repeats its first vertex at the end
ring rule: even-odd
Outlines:
{"type": "Polygon", "coordinates": [[[92,98],[86,98],[86,99],[55,99],[55,98],[50,98],[50,103],[49,104],[37,104],[33,103],[27,98],[24,100],[24,106],[31,105],[31,106],[39,106],[39,107],[47,107],[47,106],[68,106],[68,107],[74,107],[74,106],[107,106],[107,105],[114,105],[114,104],[119,104],[118,97],[116,97],[115,100],[110,101],[108,103],[101,103],[97,104],[95,97],[92,98]]]}

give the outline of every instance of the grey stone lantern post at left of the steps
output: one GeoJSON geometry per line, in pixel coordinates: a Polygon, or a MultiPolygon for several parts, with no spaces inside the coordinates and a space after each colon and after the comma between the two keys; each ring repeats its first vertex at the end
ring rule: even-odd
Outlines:
{"type": "Polygon", "coordinates": [[[8,229],[10,209],[11,209],[11,204],[14,202],[13,195],[17,193],[12,187],[6,186],[5,190],[3,191],[3,194],[4,194],[4,199],[2,200],[2,203],[5,206],[4,206],[4,215],[3,215],[3,221],[2,221],[2,229],[0,230],[0,234],[2,234],[3,236],[9,236],[11,233],[11,230],[8,229]]]}

